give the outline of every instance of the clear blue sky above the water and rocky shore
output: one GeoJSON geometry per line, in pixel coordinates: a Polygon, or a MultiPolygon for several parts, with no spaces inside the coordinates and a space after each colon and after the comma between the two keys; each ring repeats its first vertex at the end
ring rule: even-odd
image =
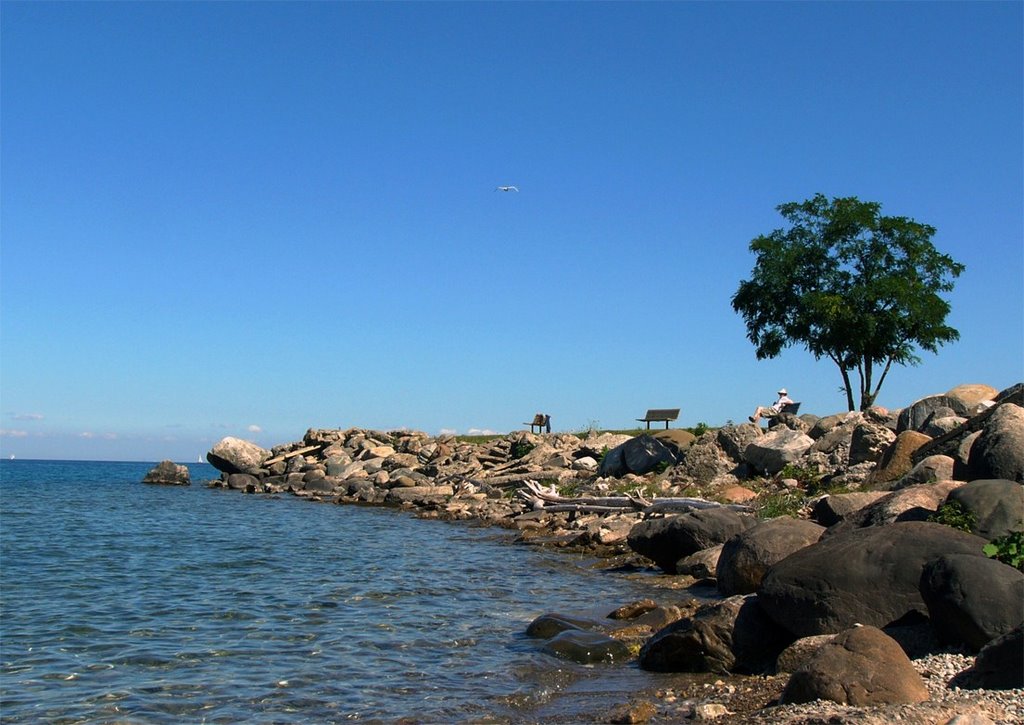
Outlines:
{"type": "Polygon", "coordinates": [[[962,339],[880,404],[1007,387],[1022,8],[4,2],[0,453],[839,412],[835,366],[757,360],[730,306],[818,191],[967,265],[962,339]]]}

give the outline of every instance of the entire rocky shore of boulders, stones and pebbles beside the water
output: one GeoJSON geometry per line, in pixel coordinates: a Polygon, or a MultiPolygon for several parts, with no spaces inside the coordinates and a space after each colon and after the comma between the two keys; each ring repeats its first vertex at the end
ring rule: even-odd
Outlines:
{"type": "Polygon", "coordinates": [[[530,625],[559,657],[688,673],[575,721],[1024,723],[1022,404],[1021,385],[962,385],[768,429],[310,429],[207,458],[211,485],[502,526],[660,572],[605,620],[530,625]]]}

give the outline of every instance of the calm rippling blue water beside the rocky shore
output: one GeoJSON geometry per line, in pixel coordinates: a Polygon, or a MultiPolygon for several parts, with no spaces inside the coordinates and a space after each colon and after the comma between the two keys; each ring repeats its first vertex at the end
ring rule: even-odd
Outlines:
{"type": "Polygon", "coordinates": [[[529,722],[653,677],[522,635],[642,582],[493,529],[207,488],[205,464],[143,485],[150,468],[0,461],[3,722],[529,722]]]}

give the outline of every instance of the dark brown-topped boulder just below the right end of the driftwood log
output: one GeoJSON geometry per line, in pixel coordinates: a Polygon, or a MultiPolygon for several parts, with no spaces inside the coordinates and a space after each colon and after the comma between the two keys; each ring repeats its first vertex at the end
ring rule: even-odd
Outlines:
{"type": "Polygon", "coordinates": [[[702,509],[640,521],[630,529],[627,543],[630,549],[646,556],[667,573],[676,573],[680,559],[724,544],[755,523],[755,517],[731,509],[702,509]]]}

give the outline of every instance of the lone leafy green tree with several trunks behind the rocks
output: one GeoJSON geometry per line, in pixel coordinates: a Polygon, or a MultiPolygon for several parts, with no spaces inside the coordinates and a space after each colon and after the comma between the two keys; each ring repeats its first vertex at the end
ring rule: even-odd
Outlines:
{"type": "Polygon", "coordinates": [[[881,204],[856,197],[818,194],[777,209],[788,227],[751,242],[757,261],[732,297],[758,359],[801,344],[839,367],[851,411],[855,372],[866,410],[894,363],[916,365],[916,348],[959,338],[939,293],[964,265],[935,249],[935,227],[882,216],[881,204]]]}

